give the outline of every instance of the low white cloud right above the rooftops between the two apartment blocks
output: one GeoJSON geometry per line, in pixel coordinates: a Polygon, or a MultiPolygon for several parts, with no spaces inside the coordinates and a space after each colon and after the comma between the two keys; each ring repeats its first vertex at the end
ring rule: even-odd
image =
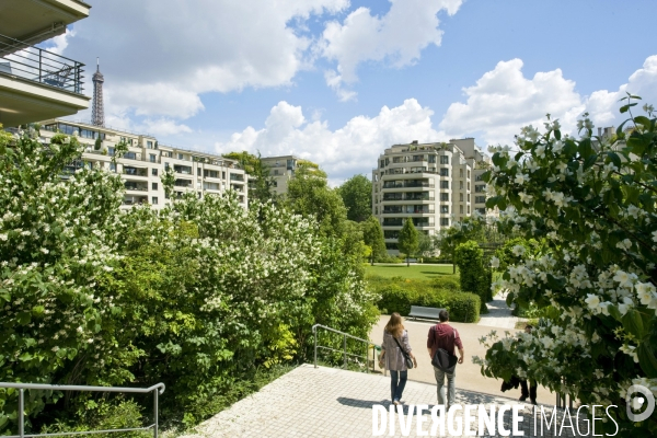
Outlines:
{"type": "Polygon", "coordinates": [[[295,154],[318,162],[335,183],[356,173],[369,176],[378,155],[391,145],[443,139],[443,134],[431,127],[433,114],[408,99],[393,108],[383,106],[376,117],[357,116],[331,130],[327,122],[309,122],[300,106],[283,101],[272,108],[264,128],[250,126],[235,132],[229,141],[216,143],[216,151],[295,154]]]}

